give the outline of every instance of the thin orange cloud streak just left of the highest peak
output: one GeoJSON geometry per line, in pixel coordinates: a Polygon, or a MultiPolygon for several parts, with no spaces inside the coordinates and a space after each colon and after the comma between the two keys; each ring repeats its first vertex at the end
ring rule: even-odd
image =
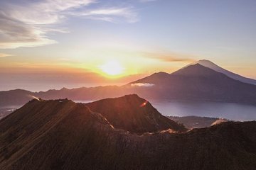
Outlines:
{"type": "Polygon", "coordinates": [[[157,52],[142,52],[142,55],[147,58],[160,60],[163,62],[195,62],[193,55],[178,54],[174,52],[157,53],[157,52]]]}

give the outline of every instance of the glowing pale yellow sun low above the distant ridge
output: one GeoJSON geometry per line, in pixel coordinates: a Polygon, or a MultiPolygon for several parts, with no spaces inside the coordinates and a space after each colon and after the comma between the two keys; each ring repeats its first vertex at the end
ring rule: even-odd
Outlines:
{"type": "Polygon", "coordinates": [[[102,70],[102,72],[110,76],[117,76],[124,72],[124,67],[122,67],[122,64],[114,60],[102,64],[100,66],[100,69],[102,70]]]}

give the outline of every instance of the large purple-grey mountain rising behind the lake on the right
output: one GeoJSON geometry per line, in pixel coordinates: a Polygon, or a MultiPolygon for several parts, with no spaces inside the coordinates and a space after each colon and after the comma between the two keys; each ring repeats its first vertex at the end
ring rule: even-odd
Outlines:
{"type": "Polygon", "coordinates": [[[169,74],[169,77],[157,79],[146,77],[132,84],[155,84],[147,92],[140,94],[144,98],[161,98],[188,101],[222,101],[256,104],[256,86],[231,79],[213,69],[193,64],[169,74]]]}

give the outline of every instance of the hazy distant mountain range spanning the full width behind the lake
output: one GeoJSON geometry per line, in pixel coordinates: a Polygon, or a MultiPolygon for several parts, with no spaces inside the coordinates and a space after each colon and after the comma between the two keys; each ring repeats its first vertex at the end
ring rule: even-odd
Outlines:
{"type": "Polygon", "coordinates": [[[214,101],[255,105],[255,91],[256,86],[253,84],[232,79],[201,64],[192,64],[172,74],[154,73],[124,86],[82,87],[40,92],[18,89],[0,91],[0,106],[22,105],[33,96],[46,99],[70,98],[75,101],[95,101],[126,94],[139,94],[143,98],[156,100],[214,101]],[[186,77],[181,72],[186,72],[186,77]]]}

